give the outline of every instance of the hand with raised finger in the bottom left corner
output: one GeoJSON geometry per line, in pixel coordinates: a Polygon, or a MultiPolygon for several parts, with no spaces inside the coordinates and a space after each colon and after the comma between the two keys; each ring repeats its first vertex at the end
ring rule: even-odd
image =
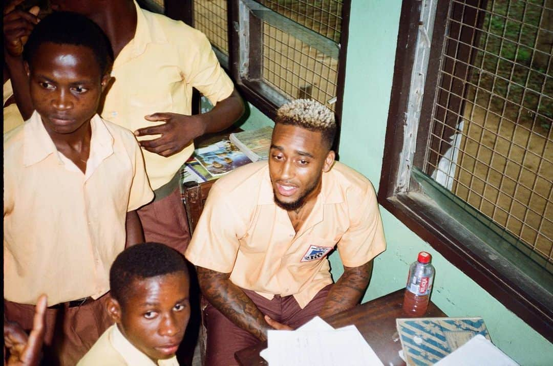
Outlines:
{"type": "Polygon", "coordinates": [[[46,311],[46,295],[40,295],[36,301],[33,330],[29,336],[14,322],[4,320],[4,355],[9,350],[9,358],[4,359],[8,366],[35,366],[40,362],[40,353],[44,342],[44,316],[46,311]]]}

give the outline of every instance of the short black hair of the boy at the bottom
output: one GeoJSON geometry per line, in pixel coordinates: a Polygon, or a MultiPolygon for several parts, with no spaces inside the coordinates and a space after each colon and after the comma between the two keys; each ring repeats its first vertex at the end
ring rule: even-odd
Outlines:
{"type": "Polygon", "coordinates": [[[121,302],[132,292],[132,281],[182,272],[189,278],[186,260],[160,243],[132,245],[117,255],[109,269],[111,297],[121,302]]]}

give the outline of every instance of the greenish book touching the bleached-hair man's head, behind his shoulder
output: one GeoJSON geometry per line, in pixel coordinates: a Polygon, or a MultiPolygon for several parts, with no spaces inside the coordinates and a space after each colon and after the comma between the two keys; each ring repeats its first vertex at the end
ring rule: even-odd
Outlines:
{"type": "Polygon", "coordinates": [[[231,133],[229,139],[252,161],[267,160],[271,146],[273,127],[231,133]]]}

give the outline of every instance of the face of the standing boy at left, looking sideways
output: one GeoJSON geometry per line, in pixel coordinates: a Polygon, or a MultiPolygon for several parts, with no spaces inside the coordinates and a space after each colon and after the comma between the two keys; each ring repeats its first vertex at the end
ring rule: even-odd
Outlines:
{"type": "Polygon", "coordinates": [[[33,106],[50,135],[87,127],[108,81],[91,49],[47,42],[25,68],[33,106]]]}

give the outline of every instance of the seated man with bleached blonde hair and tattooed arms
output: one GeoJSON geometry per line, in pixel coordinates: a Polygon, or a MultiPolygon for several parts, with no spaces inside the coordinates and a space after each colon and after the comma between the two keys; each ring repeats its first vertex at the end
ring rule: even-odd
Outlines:
{"type": "Polygon", "coordinates": [[[374,188],[335,162],[328,108],[282,106],[269,161],[234,170],[213,185],[186,258],[197,266],[205,311],[207,365],[236,364],[234,352],[319,315],[350,309],[386,247],[374,188]],[[332,284],[327,255],[344,273],[332,284]]]}

